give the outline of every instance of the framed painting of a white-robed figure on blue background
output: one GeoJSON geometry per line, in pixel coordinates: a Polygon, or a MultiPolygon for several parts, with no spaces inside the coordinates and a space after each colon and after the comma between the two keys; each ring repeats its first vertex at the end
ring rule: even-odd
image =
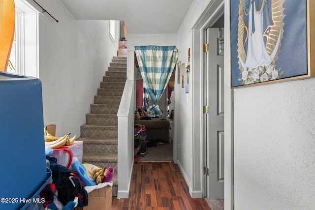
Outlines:
{"type": "Polygon", "coordinates": [[[231,88],[315,76],[314,0],[230,0],[231,88]]]}

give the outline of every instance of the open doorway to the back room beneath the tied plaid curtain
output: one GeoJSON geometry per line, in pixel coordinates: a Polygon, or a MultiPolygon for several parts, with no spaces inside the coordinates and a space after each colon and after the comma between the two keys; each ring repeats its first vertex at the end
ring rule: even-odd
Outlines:
{"type": "MultiPolygon", "coordinates": [[[[136,110],[140,113],[138,108],[147,111],[144,106],[145,96],[143,90],[143,79],[139,68],[135,66],[136,70],[136,110]]],[[[170,117],[171,111],[174,110],[174,79],[175,70],[173,71],[170,80],[163,94],[161,95],[158,105],[162,111],[162,116],[158,117],[143,117],[139,114],[135,117],[134,123],[140,123],[146,126],[146,130],[141,132],[144,140],[141,141],[140,162],[171,162],[173,161],[173,130],[174,120],[170,117]],[[170,98],[168,98],[170,97],[170,98]],[[169,103],[170,102],[170,103],[169,103]],[[172,110],[171,110],[172,109],[172,110]],[[141,118],[140,118],[141,117],[141,118]]],[[[151,100],[147,100],[149,105],[152,105],[151,100]]],[[[136,134],[135,134],[136,135],[136,134]]],[[[134,149],[139,146],[140,141],[134,140],[134,149]]]]}

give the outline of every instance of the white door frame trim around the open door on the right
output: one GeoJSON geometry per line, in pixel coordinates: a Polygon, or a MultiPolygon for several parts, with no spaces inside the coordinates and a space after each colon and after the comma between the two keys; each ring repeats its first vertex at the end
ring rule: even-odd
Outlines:
{"type": "MultiPolygon", "coordinates": [[[[224,13],[225,40],[224,45],[230,46],[230,4],[227,0],[213,0],[205,8],[195,25],[192,27],[192,192],[191,197],[204,197],[203,183],[203,82],[202,70],[204,67],[203,57],[203,30],[213,25],[215,21],[224,13]]],[[[230,50],[225,47],[224,68],[230,69],[230,50]]],[[[225,72],[226,72],[225,70],[225,72]]],[[[228,210],[234,209],[234,152],[233,152],[233,91],[230,89],[229,73],[224,76],[224,207],[228,210]]]]}

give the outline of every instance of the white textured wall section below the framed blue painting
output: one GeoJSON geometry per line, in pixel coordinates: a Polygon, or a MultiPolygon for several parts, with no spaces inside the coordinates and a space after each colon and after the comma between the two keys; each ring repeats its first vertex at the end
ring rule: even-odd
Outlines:
{"type": "Polygon", "coordinates": [[[315,79],[234,91],[235,209],[315,209],[315,79]]]}

